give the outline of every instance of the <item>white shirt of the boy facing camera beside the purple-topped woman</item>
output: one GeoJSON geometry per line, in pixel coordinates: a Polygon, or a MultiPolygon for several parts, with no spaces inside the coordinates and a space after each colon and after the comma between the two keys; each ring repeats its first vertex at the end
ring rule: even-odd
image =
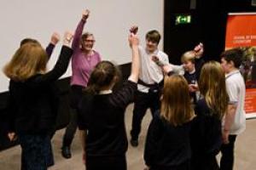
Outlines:
{"type": "MultiPolygon", "coordinates": [[[[141,79],[143,82],[146,82],[147,84],[154,84],[162,81],[164,78],[163,71],[161,70],[160,66],[156,65],[152,60],[152,56],[156,55],[162,63],[168,64],[168,55],[159,49],[156,49],[154,53],[149,54],[146,48],[141,46],[139,47],[139,53],[141,59],[139,79],[141,79]]],[[[137,88],[143,93],[148,93],[148,87],[138,84],[137,88]]]]}

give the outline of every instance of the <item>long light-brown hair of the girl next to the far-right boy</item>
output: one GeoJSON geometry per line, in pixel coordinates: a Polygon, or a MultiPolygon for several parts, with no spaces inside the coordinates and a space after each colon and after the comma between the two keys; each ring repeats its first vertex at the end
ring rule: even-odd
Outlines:
{"type": "Polygon", "coordinates": [[[226,91],[224,71],[217,61],[209,61],[203,65],[199,88],[212,113],[217,114],[221,119],[227,110],[229,96],[226,91]]]}

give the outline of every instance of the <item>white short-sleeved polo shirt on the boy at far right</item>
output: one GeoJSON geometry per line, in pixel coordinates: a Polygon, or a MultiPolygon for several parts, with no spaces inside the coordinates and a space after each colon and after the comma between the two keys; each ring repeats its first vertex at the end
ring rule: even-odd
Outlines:
{"type": "Polygon", "coordinates": [[[226,88],[230,96],[230,102],[236,103],[236,115],[230,134],[240,134],[246,129],[246,115],[244,111],[245,82],[240,71],[231,71],[226,75],[226,88]]]}

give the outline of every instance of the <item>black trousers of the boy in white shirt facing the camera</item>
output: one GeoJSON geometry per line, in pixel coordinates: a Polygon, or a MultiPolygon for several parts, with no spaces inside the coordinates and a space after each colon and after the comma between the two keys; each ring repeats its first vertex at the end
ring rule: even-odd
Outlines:
{"type": "Polygon", "coordinates": [[[150,109],[152,116],[154,112],[160,109],[160,92],[142,93],[137,91],[131,124],[131,139],[138,139],[141,132],[141,124],[147,109],[150,109]]]}

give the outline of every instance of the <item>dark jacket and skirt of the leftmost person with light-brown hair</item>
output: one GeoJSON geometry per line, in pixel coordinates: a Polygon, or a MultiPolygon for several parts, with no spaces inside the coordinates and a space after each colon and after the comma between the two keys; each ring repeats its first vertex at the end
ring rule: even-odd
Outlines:
{"type": "Polygon", "coordinates": [[[65,71],[73,50],[62,46],[55,67],[24,82],[9,82],[9,132],[20,138],[21,169],[47,169],[54,164],[49,133],[55,127],[59,105],[55,81],[65,71]]]}

